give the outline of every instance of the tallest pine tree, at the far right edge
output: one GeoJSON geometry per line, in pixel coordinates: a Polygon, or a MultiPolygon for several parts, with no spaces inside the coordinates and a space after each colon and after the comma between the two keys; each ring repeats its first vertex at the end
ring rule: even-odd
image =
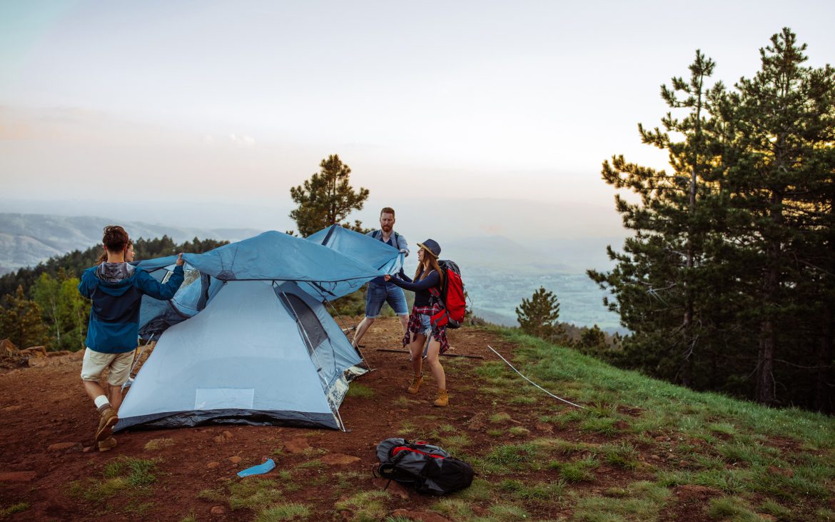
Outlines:
{"type": "MultiPolygon", "coordinates": [[[[746,260],[756,296],[749,310],[757,331],[756,397],[767,404],[777,402],[775,374],[792,372],[778,370],[775,362],[788,357],[787,345],[807,336],[804,316],[813,314],[822,327],[812,329],[831,338],[826,328],[832,325],[832,276],[817,263],[827,265],[832,254],[825,247],[831,232],[824,227],[831,231],[831,210],[825,209],[835,170],[833,74],[828,66],[802,66],[806,48],[789,28],[773,35],[771,45],[760,49],[761,70],[736,84],[728,111],[736,125],[723,160],[738,223],[732,254],[746,260]]],[[[828,358],[822,366],[831,367],[831,344],[823,341],[821,349],[819,358],[828,358]]],[[[798,355],[804,357],[792,352],[798,355]]]]}

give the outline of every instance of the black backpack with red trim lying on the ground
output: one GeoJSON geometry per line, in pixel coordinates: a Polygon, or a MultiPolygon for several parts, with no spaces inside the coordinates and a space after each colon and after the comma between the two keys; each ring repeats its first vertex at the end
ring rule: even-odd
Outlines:
{"type": "Polygon", "coordinates": [[[422,440],[387,438],[377,444],[377,459],[383,479],[397,480],[417,493],[448,494],[473,483],[472,466],[422,440]]]}

